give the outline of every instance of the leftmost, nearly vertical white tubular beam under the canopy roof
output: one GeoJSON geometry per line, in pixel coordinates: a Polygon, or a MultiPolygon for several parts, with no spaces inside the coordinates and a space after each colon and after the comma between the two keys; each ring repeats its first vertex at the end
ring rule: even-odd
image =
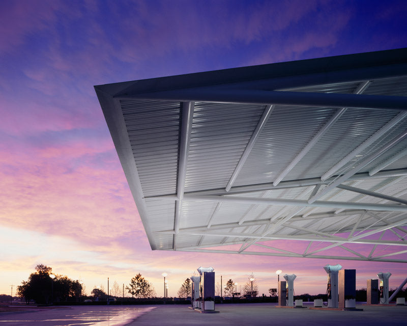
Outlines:
{"type": "Polygon", "coordinates": [[[194,113],[194,103],[183,102],[181,136],[180,136],[180,157],[178,163],[178,177],[177,177],[177,202],[174,219],[174,231],[175,231],[173,243],[174,250],[177,250],[176,235],[180,231],[180,219],[182,212],[182,202],[184,197],[185,177],[187,174],[187,162],[188,162],[189,143],[191,140],[193,113],[194,113]]]}

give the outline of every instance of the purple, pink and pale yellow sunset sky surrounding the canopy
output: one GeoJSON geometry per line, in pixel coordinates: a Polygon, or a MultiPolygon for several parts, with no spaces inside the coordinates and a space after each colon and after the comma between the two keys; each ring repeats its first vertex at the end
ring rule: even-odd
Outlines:
{"type": "MultiPolygon", "coordinates": [[[[0,2],[0,294],[43,263],[88,293],[141,273],[170,296],[199,266],[259,293],[275,270],[325,293],[326,264],[357,288],[401,263],[152,251],[94,85],[407,46],[401,1],[0,2]]],[[[238,288],[239,289],[239,288],[238,288]]]]}

